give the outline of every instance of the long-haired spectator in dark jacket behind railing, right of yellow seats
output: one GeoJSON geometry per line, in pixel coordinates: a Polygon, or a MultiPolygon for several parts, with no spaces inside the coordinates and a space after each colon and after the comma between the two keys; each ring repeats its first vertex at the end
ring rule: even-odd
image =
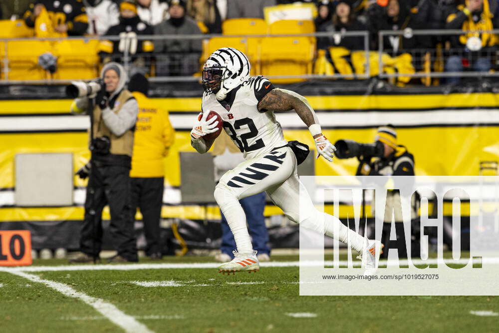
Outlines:
{"type": "MultiPolygon", "coordinates": [[[[366,26],[361,23],[352,11],[347,1],[339,1],[336,4],[332,20],[323,24],[320,31],[344,32],[364,31],[366,26]]],[[[365,49],[363,36],[342,36],[334,34],[332,37],[321,37],[317,39],[317,47],[328,49],[330,46],[343,46],[349,50],[365,49]]]]}

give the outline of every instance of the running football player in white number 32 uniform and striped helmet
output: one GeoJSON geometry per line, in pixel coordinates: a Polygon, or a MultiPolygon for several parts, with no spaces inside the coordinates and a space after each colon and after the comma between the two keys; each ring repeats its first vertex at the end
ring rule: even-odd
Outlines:
{"type": "Polygon", "coordinates": [[[227,218],[237,245],[235,258],[220,265],[219,272],[259,270],[239,200],[266,191],[289,220],[304,223],[307,228],[349,244],[360,252],[365,274],[373,274],[383,245],[367,240],[336,217],[314,207],[297,174],[297,165],[306,157],[308,148],[297,141],[288,143],[284,140],[282,128],[275,120],[273,111],[294,110],[314,139],[316,158],[321,155],[332,161],[336,149],[322,134],[307,100],[293,91],[275,88],[265,77],[250,77],[248,58],[231,47],[220,48],[210,55],[203,66],[202,84],[205,90],[201,106],[203,116],[191,131],[191,145],[201,154],[210,149],[214,141],[205,140],[203,136],[217,131],[217,117],[207,119],[208,113],[215,111],[245,157],[245,162],[228,171],[215,188],[215,200],[227,218]]]}

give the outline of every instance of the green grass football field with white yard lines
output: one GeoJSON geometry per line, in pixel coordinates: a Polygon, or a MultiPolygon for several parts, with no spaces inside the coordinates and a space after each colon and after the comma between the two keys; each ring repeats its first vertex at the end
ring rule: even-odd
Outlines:
{"type": "Polygon", "coordinates": [[[497,316],[470,313],[499,312],[497,297],[299,296],[298,267],[227,276],[214,268],[188,268],[194,262],[213,258],[160,262],[186,263],[176,269],[129,264],[140,269],[74,270],[60,267],[66,261],[37,260],[34,266],[58,268],[0,271],[0,332],[494,332],[499,327],[497,316]]]}

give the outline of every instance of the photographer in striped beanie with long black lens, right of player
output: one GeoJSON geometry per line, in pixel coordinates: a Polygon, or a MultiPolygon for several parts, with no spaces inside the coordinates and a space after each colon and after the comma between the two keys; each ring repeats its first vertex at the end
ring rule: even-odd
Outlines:
{"type": "MultiPolygon", "coordinates": [[[[335,143],[337,148],[335,154],[338,158],[357,157],[359,166],[357,167],[356,176],[414,176],[414,157],[407,151],[407,148],[397,144],[397,132],[391,125],[386,125],[378,128],[377,135],[373,144],[361,144],[352,140],[338,140],[335,143]]],[[[386,182],[388,179],[373,179],[373,181],[386,182]]],[[[400,179],[399,179],[400,181],[400,179]]],[[[397,188],[401,186],[412,186],[410,184],[397,184],[395,180],[395,189],[388,189],[384,213],[384,225],[381,236],[381,242],[385,244],[385,250],[381,255],[382,258],[388,257],[390,247],[398,249],[399,258],[407,258],[407,249],[405,239],[401,242],[390,241],[392,213],[395,220],[395,232],[397,239],[402,240],[404,233],[403,218],[402,218],[402,200],[411,203],[411,220],[417,221],[419,209],[419,197],[416,194],[412,198],[401,197],[400,191],[397,188]]],[[[406,183],[406,181],[404,181],[406,183]]],[[[380,185],[380,184],[378,184],[380,185]]],[[[417,192],[416,192],[417,193],[417,192]]],[[[375,201],[371,202],[371,207],[375,207],[375,201]]],[[[373,210],[374,211],[374,210],[373,210]]],[[[419,226],[419,223],[416,225],[419,226]]],[[[413,230],[415,233],[411,238],[419,238],[419,229],[413,230]]],[[[392,236],[393,237],[393,236],[392,236]]],[[[419,243],[418,243],[419,244],[419,243]]],[[[413,248],[412,256],[419,255],[419,246],[413,248]]]]}

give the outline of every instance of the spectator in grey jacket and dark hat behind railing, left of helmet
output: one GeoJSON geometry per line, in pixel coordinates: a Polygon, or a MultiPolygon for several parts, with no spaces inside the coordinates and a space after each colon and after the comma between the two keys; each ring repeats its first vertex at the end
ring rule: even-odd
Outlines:
{"type": "Polygon", "coordinates": [[[201,34],[198,24],[186,16],[186,2],[171,0],[168,12],[170,18],[154,26],[158,35],[176,34],[177,39],[156,39],[156,75],[192,75],[199,70],[201,39],[182,39],[182,35],[201,34]]]}

